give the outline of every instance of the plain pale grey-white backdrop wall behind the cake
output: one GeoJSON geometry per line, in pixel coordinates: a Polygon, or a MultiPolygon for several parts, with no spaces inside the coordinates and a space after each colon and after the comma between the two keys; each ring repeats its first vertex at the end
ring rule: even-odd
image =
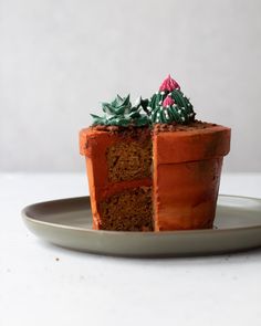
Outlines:
{"type": "Polygon", "coordinates": [[[0,170],[80,171],[77,133],[171,73],[232,127],[227,171],[261,171],[261,1],[0,0],[0,170]]]}

